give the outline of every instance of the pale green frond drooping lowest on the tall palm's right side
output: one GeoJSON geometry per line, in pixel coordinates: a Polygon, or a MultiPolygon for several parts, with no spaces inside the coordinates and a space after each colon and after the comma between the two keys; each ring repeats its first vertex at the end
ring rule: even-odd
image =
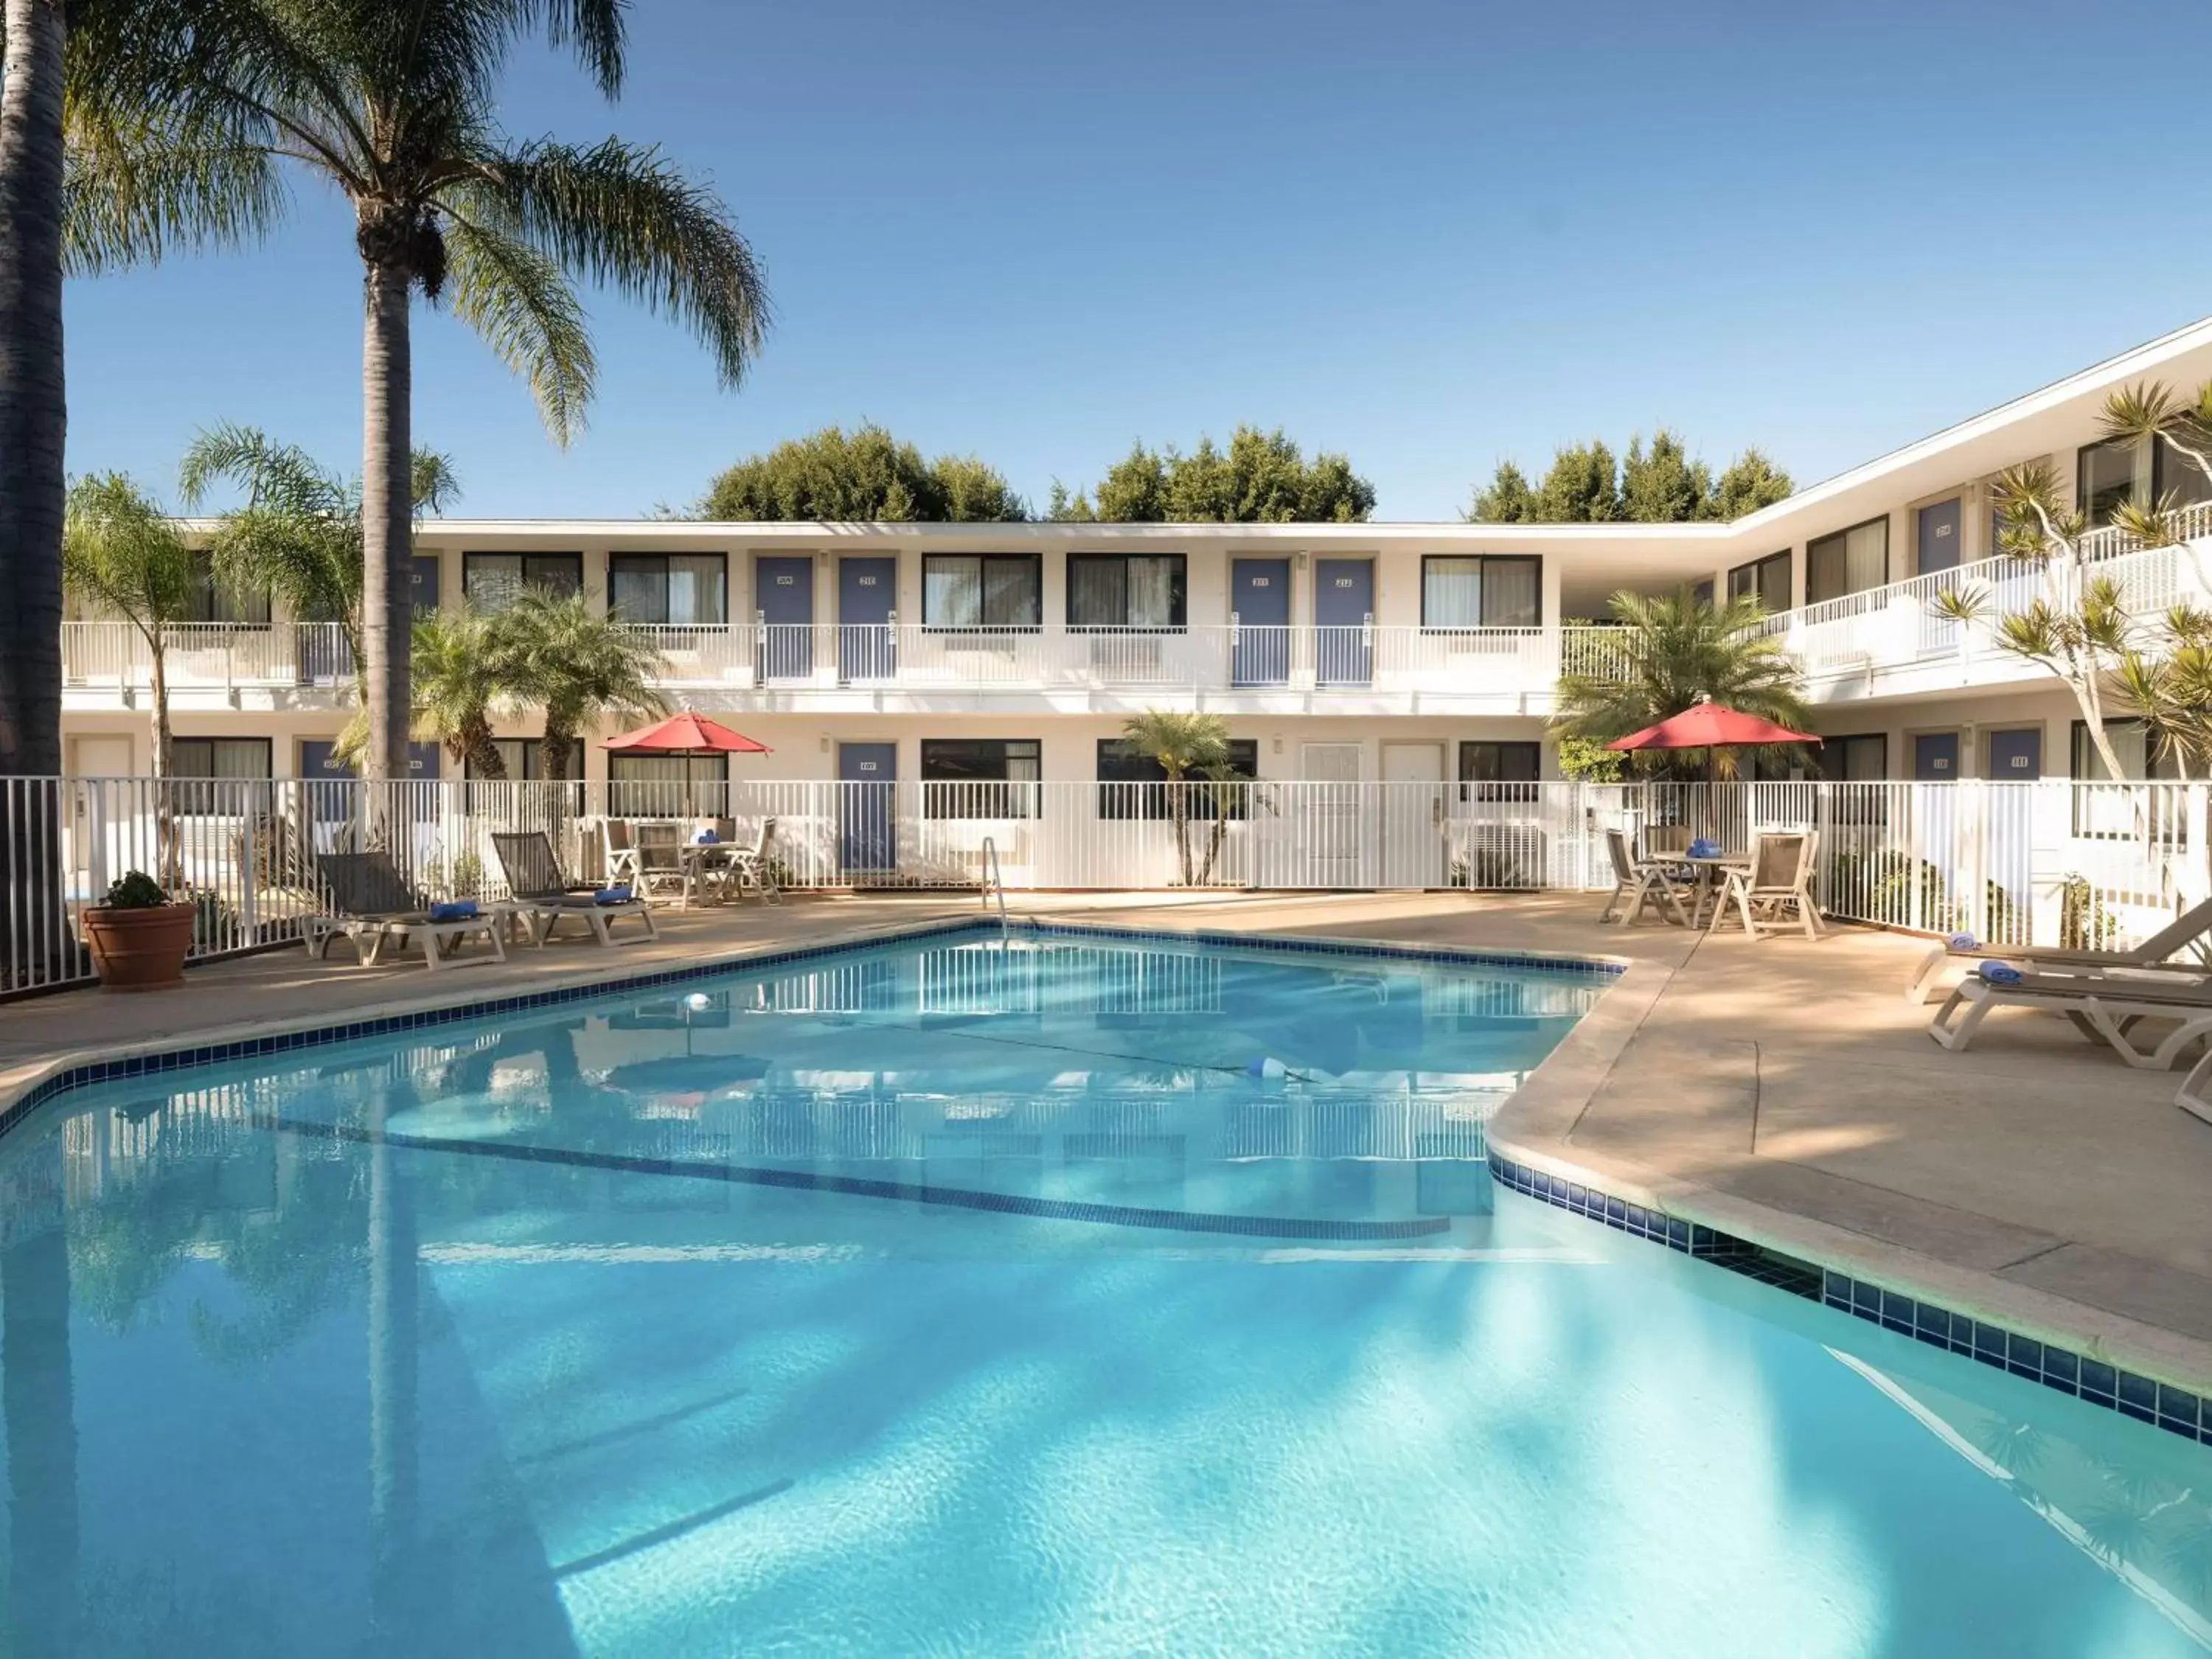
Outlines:
{"type": "Polygon", "coordinates": [[[445,252],[453,316],[529,383],[546,431],[566,447],[584,427],[597,383],[591,330],[568,279],[526,241],[458,215],[447,223],[445,252]]]}

